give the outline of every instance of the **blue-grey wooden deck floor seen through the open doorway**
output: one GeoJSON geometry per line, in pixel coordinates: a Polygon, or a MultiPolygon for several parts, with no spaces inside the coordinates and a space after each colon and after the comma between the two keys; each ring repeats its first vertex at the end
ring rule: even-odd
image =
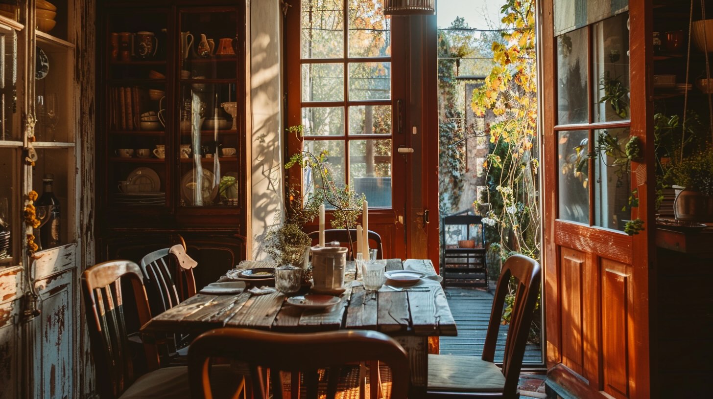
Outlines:
{"type": "MultiPolygon", "coordinates": [[[[446,288],[448,306],[451,306],[453,318],[458,326],[458,336],[442,336],[441,355],[474,355],[483,353],[483,343],[488,331],[493,291],[482,289],[448,287],[446,288]]],[[[503,359],[505,338],[508,326],[501,326],[496,348],[496,361],[503,359]]],[[[523,363],[540,363],[540,346],[530,345],[525,348],[523,363]]]]}

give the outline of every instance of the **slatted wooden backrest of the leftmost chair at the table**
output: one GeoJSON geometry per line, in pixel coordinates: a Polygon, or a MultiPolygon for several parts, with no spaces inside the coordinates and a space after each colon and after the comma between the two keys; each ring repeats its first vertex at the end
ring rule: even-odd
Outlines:
{"type": "MultiPolygon", "coordinates": [[[[120,279],[131,281],[138,321],[141,325],[147,323],[151,314],[137,264],[124,260],[108,261],[96,264],[82,274],[97,389],[102,398],[118,398],[135,379],[132,356],[128,353],[120,279]]],[[[155,346],[145,344],[144,351],[149,370],[158,368],[155,346]]]]}

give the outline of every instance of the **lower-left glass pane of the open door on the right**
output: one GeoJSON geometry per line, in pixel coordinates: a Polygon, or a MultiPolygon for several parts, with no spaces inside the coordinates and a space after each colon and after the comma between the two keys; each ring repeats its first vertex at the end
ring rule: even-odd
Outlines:
{"type": "Polygon", "coordinates": [[[589,224],[587,130],[558,132],[559,218],[589,224]]]}

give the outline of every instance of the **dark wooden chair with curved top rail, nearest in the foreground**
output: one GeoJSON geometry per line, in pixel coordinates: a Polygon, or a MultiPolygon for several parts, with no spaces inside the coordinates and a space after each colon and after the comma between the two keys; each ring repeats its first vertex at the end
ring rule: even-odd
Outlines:
{"type": "MultiPolygon", "coordinates": [[[[252,376],[253,397],[267,399],[262,373],[270,370],[272,386],[282,387],[282,373],[301,372],[307,398],[317,398],[317,371],[329,368],[339,375],[339,366],[360,361],[383,361],[391,368],[391,398],[404,399],[409,390],[409,359],[399,343],[377,331],[332,331],[327,333],[273,333],[245,328],[217,328],[193,341],[188,352],[190,389],[193,398],[213,398],[208,383],[209,361],[227,357],[247,363],[252,376]],[[336,368],[336,369],[335,369],[336,368]]],[[[297,389],[294,385],[292,390],[297,389]]],[[[337,378],[327,381],[327,399],[337,393],[337,378]]],[[[282,389],[273,398],[282,399],[282,389]]],[[[294,398],[294,395],[293,395],[294,398]]]]}

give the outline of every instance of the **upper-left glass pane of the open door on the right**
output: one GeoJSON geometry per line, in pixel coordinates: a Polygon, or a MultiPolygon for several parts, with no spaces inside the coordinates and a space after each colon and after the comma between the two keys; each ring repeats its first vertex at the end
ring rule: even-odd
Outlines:
{"type": "Polygon", "coordinates": [[[565,33],[557,38],[558,123],[587,123],[587,29],[565,33]]]}

